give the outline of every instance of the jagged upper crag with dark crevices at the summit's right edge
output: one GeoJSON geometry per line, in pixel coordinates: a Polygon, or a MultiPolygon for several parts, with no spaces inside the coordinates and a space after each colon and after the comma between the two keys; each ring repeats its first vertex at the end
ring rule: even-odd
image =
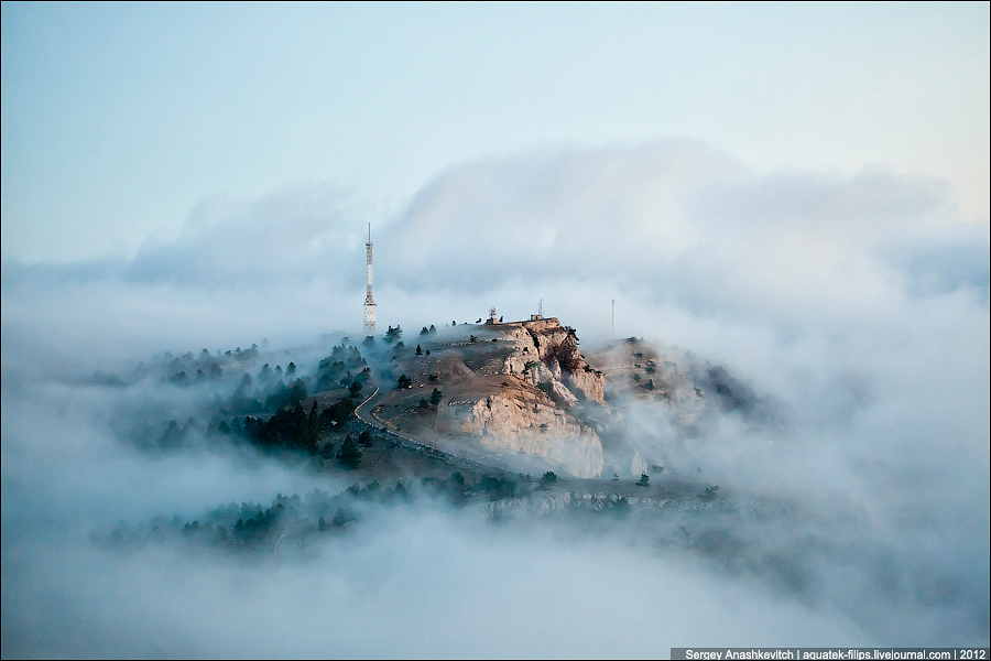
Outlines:
{"type": "Polygon", "coordinates": [[[552,397],[565,407],[579,398],[603,401],[605,377],[581,356],[573,328],[553,317],[521,322],[507,333],[507,339],[514,343],[514,351],[505,359],[505,373],[534,386],[551,384],[552,397]]]}

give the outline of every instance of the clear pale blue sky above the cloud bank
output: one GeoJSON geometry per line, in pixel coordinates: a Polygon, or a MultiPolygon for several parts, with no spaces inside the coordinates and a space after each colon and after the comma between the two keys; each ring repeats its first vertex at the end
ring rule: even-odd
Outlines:
{"type": "Polygon", "coordinates": [[[989,4],[2,6],[2,254],[129,257],[205,198],[709,142],[989,208],[989,4]]]}

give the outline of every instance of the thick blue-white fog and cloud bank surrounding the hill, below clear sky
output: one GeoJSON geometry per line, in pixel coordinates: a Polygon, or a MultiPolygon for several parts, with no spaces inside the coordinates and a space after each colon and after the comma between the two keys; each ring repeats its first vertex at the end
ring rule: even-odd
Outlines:
{"type": "Polygon", "coordinates": [[[398,210],[301,186],[205,201],[129,262],[2,269],[4,655],[989,643],[989,229],[937,181],[762,174],[695,142],[524,153],[451,167],[398,210]],[[348,487],[127,437],[214,395],[145,370],[165,351],[258,343],[305,368],[363,335],[369,223],[380,333],[543,301],[582,350],[635,336],[723,366],[769,420],[727,412],[686,443],[634,401],[631,434],[781,513],[686,523],[730,540],[712,553],[431,499],[371,508],[301,557],[100,541],[348,487]]]}

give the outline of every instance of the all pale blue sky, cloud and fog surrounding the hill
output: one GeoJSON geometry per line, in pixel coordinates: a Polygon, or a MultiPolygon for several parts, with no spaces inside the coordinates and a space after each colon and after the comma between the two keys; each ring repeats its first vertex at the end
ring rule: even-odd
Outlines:
{"type": "Polygon", "coordinates": [[[118,4],[2,4],[4,657],[987,647],[987,3],[118,4]],[[782,503],[744,568],[418,506],[284,564],[92,543],[347,487],[121,430],[237,386],[170,355],[359,337],[369,224],[379,335],[543,301],[773,402],[624,411],[782,503]]]}

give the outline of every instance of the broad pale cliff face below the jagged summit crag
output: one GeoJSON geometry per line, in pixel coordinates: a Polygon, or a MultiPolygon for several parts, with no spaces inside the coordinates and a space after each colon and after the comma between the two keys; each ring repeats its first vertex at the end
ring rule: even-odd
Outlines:
{"type": "Polygon", "coordinates": [[[437,426],[473,435],[490,449],[541,457],[575,477],[602,474],[602,443],[595,430],[538,392],[510,390],[475,402],[449,402],[442,407],[437,426]]]}

